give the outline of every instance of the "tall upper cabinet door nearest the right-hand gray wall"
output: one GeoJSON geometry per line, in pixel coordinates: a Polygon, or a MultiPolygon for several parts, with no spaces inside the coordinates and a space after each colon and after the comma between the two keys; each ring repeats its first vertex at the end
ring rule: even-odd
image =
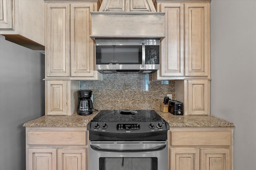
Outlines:
{"type": "Polygon", "coordinates": [[[208,67],[210,68],[209,10],[209,3],[185,4],[186,76],[208,76],[208,67]]]}

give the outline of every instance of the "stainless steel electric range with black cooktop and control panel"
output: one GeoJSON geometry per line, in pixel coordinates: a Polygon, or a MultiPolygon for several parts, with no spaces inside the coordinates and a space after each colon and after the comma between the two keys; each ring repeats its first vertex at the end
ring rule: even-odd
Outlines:
{"type": "Polygon", "coordinates": [[[102,110],[88,123],[89,170],[167,170],[169,125],[154,110],[102,110]]]}

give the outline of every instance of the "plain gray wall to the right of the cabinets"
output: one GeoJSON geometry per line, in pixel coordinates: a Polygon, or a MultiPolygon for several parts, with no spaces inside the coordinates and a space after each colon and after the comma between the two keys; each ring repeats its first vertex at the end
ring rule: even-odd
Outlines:
{"type": "Polygon", "coordinates": [[[211,114],[235,124],[234,170],[256,170],[256,0],[211,1],[211,114]]]}

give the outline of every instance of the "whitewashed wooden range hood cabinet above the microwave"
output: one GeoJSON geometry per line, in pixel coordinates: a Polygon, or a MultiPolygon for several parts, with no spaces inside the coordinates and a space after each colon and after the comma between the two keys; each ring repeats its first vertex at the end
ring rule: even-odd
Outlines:
{"type": "Polygon", "coordinates": [[[152,0],[103,0],[91,12],[91,38],[164,38],[164,14],[152,0]]]}

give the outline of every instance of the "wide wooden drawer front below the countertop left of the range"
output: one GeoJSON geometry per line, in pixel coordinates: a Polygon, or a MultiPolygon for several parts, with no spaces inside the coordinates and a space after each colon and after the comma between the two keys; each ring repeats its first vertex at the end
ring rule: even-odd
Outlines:
{"type": "Polygon", "coordinates": [[[28,131],[28,145],[86,145],[86,131],[28,131]]]}

